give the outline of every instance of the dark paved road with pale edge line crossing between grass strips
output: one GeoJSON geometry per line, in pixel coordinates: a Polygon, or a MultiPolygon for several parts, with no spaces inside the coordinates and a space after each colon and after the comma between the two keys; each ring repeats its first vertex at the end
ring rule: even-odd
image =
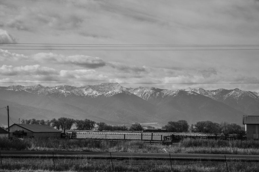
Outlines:
{"type": "Polygon", "coordinates": [[[212,161],[258,161],[259,155],[223,155],[188,153],[136,153],[136,152],[66,152],[66,151],[1,151],[2,157],[15,158],[122,158],[122,159],[171,159],[173,160],[212,160],[212,161]]]}

